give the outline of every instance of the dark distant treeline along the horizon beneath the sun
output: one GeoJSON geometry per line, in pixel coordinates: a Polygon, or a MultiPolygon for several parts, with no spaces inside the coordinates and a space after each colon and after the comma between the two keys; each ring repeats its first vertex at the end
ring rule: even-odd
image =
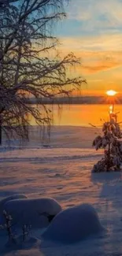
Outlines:
{"type": "MultiPolygon", "coordinates": [[[[116,101],[115,101],[116,102],[116,101]]],[[[28,104],[109,104],[104,96],[79,96],[60,98],[27,98],[28,104]]],[[[117,98],[116,104],[122,104],[122,98],[117,98]]]]}

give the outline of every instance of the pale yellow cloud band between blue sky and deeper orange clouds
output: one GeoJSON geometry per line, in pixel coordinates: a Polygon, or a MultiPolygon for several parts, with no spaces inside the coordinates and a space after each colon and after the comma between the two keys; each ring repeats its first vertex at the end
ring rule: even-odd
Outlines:
{"type": "Polygon", "coordinates": [[[122,34],[61,37],[61,49],[68,51],[122,51],[122,34]]]}

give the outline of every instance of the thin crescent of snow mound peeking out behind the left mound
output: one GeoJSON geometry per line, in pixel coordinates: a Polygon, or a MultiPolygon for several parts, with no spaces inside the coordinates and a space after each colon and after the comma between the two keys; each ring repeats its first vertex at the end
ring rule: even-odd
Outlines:
{"type": "Polygon", "coordinates": [[[9,202],[10,200],[14,200],[14,199],[20,199],[20,198],[28,198],[28,197],[23,194],[17,194],[17,195],[10,195],[7,198],[3,198],[0,201],[0,214],[2,214],[6,202],[9,202]]]}

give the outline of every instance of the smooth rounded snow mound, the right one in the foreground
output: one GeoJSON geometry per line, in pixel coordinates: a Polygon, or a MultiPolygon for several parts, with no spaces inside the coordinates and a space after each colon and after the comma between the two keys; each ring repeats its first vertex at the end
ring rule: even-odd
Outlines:
{"type": "Polygon", "coordinates": [[[43,233],[43,238],[64,243],[75,243],[102,230],[102,225],[94,208],[89,204],[82,204],[58,213],[46,232],[43,233]]]}

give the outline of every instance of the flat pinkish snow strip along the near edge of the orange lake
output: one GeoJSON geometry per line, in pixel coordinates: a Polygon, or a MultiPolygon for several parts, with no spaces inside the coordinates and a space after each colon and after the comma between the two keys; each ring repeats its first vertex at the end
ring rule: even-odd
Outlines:
{"type": "MultiPolygon", "coordinates": [[[[80,127],[80,126],[52,126],[50,130],[50,138],[43,135],[39,126],[31,126],[29,128],[29,141],[20,142],[19,139],[11,139],[10,143],[6,137],[2,138],[2,144],[11,150],[14,147],[60,147],[60,148],[91,148],[92,141],[96,136],[96,132],[100,134],[102,128],[80,127]]],[[[6,150],[6,149],[5,149],[6,150]]]]}

